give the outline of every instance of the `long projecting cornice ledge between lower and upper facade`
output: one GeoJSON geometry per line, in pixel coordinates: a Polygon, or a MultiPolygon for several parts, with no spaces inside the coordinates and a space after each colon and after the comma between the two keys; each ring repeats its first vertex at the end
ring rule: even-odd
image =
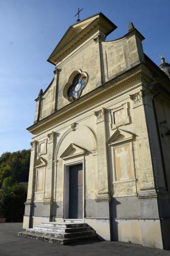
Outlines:
{"type": "Polygon", "coordinates": [[[57,110],[55,113],[41,119],[38,123],[31,125],[27,128],[29,132],[34,132],[43,125],[60,119],[65,118],[68,115],[72,115],[76,111],[86,108],[98,100],[105,98],[108,94],[114,93],[117,90],[122,89],[124,86],[129,85],[135,81],[142,80],[145,78],[148,82],[151,81],[151,77],[144,70],[145,64],[140,63],[139,65],[126,70],[123,74],[114,77],[113,79],[106,82],[104,85],[97,87],[89,93],[83,95],[78,100],[69,103],[63,108],[57,110]]]}

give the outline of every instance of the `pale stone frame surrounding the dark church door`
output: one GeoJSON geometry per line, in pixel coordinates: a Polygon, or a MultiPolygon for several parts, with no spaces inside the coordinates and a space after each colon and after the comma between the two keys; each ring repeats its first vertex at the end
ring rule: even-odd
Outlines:
{"type": "MultiPolygon", "coordinates": [[[[73,159],[72,159],[73,161],[73,159]]],[[[82,164],[83,171],[83,219],[84,219],[84,157],[74,162],[64,163],[64,186],[63,186],[63,219],[69,219],[69,167],[82,164]]],[[[78,220],[78,219],[77,219],[78,220]]]]}

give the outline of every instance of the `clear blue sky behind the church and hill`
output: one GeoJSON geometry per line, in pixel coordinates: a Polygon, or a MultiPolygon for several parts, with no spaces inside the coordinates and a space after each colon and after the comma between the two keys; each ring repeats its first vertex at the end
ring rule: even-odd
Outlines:
{"type": "Polygon", "coordinates": [[[0,155],[30,148],[35,99],[49,85],[54,66],[46,60],[76,21],[103,12],[117,29],[107,37],[128,32],[129,22],[145,36],[143,49],[157,64],[162,52],[170,62],[169,0],[0,0],[0,155]]]}

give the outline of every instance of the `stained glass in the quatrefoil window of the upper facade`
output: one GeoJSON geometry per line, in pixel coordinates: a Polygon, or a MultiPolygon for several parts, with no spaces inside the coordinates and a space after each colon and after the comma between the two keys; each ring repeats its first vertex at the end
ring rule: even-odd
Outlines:
{"type": "Polygon", "coordinates": [[[72,85],[67,91],[68,97],[69,98],[72,97],[73,100],[77,100],[80,97],[86,82],[87,82],[86,76],[82,76],[81,74],[76,75],[73,79],[72,85]]]}

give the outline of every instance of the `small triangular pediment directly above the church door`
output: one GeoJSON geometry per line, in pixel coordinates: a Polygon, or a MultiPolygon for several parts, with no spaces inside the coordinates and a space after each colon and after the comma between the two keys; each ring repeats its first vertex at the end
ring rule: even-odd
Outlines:
{"type": "Polygon", "coordinates": [[[75,145],[74,143],[71,143],[69,147],[67,147],[66,150],[63,152],[63,154],[61,155],[61,158],[64,159],[64,158],[79,156],[79,155],[85,154],[86,151],[87,149],[82,148],[78,145],[75,145]]]}

